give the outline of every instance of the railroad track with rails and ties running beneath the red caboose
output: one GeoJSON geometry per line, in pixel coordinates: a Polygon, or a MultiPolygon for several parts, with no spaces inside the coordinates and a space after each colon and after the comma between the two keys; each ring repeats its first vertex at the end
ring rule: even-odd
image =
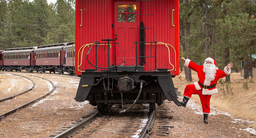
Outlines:
{"type": "MultiPolygon", "coordinates": [[[[83,117],[78,120],[72,122],[67,126],[63,126],[60,130],[50,135],[50,137],[54,138],[68,138],[71,136],[76,137],[76,133],[78,133],[82,129],[87,129],[87,135],[85,137],[130,137],[131,135],[139,135],[140,138],[147,138],[149,136],[149,132],[154,122],[155,111],[149,113],[149,107],[141,108],[135,107],[132,111],[124,114],[119,114],[118,111],[120,109],[115,108],[113,110],[113,106],[110,108],[110,112],[105,114],[108,115],[100,115],[102,113],[97,111],[97,108],[93,109],[93,111],[87,113],[83,117]],[[112,109],[111,109],[112,108],[112,109]],[[116,112],[117,111],[117,112],[116,112]],[[145,119],[146,116],[146,119],[145,119]],[[149,117],[148,117],[149,116],[149,117]],[[144,118],[144,119],[143,119],[144,118]],[[141,120],[145,122],[145,124],[141,124],[141,120]],[[92,123],[91,123],[92,122],[92,123]],[[101,124],[101,126],[95,127],[93,123],[101,124]],[[116,122],[116,123],[114,123],[116,122]],[[118,123],[121,122],[121,123],[118,123]],[[106,123],[106,124],[105,124],[106,123]],[[90,124],[90,125],[89,125],[90,124]],[[96,130],[95,130],[96,129],[96,130]],[[89,131],[89,132],[88,132],[89,131]]],[[[83,130],[82,130],[83,131],[83,130]]],[[[84,132],[80,133],[84,133],[84,132]]],[[[81,135],[79,135],[81,137],[81,135]]]]}

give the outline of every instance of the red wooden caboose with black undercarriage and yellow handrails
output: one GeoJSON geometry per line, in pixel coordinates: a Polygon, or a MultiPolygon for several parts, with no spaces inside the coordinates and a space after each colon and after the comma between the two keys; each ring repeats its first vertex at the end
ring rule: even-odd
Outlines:
{"type": "Polygon", "coordinates": [[[76,0],[75,9],[76,101],[180,106],[178,0],[76,0]]]}

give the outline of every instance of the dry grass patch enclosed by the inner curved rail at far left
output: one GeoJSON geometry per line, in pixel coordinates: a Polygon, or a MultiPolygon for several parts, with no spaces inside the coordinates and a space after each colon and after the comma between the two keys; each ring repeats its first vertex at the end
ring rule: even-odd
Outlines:
{"type": "Polygon", "coordinates": [[[30,80],[14,75],[0,74],[0,99],[18,94],[31,86],[30,80]]]}

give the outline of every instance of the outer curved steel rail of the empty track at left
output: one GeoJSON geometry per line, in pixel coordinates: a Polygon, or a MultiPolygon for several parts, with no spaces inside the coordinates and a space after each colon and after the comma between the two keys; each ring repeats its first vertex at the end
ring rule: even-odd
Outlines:
{"type": "Polygon", "coordinates": [[[7,115],[10,115],[10,114],[12,114],[12,113],[15,113],[15,112],[16,112],[17,110],[19,110],[19,109],[23,109],[23,108],[27,107],[27,106],[30,105],[30,104],[33,104],[33,103],[38,102],[39,100],[41,100],[41,99],[45,98],[46,96],[48,96],[49,94],[51,94],[51,93],[53,92],[53,90],[55,89],[55,85],[54,85],[50,80],[47,80],[47,79],[42,78],[42,77],[34,76],[34,75],[29,75],[29,76],[37,77],[37,78],[40,78],[40,79],[49,81],[49,82],[52,84],[52,89],[51,89],[47,94],[44,94],[43,96],[41,96],[41,97],[39,97],[39,98],[36,98],[36,99],[34,99],[34,100],[32,100],[32,101],[30,101],[30,102],[28,102],[28,103],[26,103],[26,104],[23,104],[23,105],[21,105],[21,106],[15,108],[15,109],[13,109],[13,110],[10,110],[10,111],[8,111],[8,112],[6,112],[6,113],[0,114],[0,120],[3,119],[3,118],[5,118],[7,115]]]}

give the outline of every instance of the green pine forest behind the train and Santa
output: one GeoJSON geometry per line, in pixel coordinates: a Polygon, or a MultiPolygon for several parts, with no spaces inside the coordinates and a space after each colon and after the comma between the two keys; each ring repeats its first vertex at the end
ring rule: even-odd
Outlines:
{"type": "MultiPolygon", "coordinates": [[[[256,64],[251,58],[256,54],[256,1],[179,0],[179,3],[184,58],[203,64],[205,58],[212,57],[222,70],[232,62],[232,71],[243,69],[244,78],[249,78],[248,70],[256,64]]],[[[74,0],[57,0],[54,4],[46,0],[1,0],[0,49],[73,42],[74,5],[74,0]]],[[[187,81],[192,81],[191,70],[185,67],[184,71],[187,81]]],[[[228,81],[230,75],[226,77],[228,81]]]]}

